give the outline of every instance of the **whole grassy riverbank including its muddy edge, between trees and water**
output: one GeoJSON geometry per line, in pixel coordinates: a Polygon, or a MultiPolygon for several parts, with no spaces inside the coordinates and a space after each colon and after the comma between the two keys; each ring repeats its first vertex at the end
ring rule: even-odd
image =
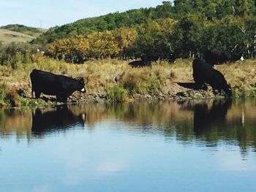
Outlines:
{"type": "MultiPolygon", "coordinates": [[[[45,106],[56,105],[54,97],[31,99],[29,74],[41,69],[69,77],[83,77],[86,93],[75,92],[69,102],[135,101],[166,99],[205,99],[223,97],[208,91],[195,91],[192,77],[192,60],[177,59],[174,64],[157,61],[151,66],[132,68],[128,61],[105,59],[87,61],[85,64],[67,64],[34,55],[28,64],[0,66],[0,105],[45,106]],[[19,96],[20,95],[20,96],[19,96]],[[46,101],[46,102],[45,102],[46,101]]],[[[256,96],[256,61],[238,61],[235,64],[215,66],[225,75],[233,90],[233,97],[256,96]]]]}

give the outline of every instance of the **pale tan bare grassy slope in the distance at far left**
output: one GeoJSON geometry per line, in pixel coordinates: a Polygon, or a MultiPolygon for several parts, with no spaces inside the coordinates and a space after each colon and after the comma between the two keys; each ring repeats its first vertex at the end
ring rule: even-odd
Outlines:
{"type": "Polygon", "coordinates": [[[20,42],[29,42],[35,37],[32,37],[27,34],[22,34],[15,31],[10,31],[7,29],[0,29],[0,43],[1,45],[10,45],[10,43],[20,43],[20,42]]]}

